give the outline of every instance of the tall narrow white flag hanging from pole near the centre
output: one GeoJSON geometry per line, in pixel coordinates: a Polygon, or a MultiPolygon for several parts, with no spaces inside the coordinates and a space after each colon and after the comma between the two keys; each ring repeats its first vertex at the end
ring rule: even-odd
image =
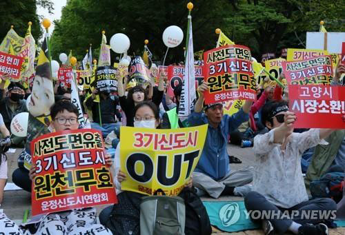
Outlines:
{"type": "Polygon", "coordinates": [[[190,21],[188,48],[186,52],[186,65],[184,68],[184,83],[182,85],[181,99],[179,101],[179,119],[185,121],[189,114],[193,112],[195,100],[195,68],[194,68],[194,50],[193,50],[193,30],[192,17],[188,16],[190,21]]]}

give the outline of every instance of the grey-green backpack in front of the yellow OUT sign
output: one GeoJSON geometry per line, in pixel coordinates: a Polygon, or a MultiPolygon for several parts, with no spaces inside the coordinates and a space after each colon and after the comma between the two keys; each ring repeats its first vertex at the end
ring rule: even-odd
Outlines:
{"type": "Polygon", "coordinates": [[[144,196],[140,204],[141,234],[184,235],[186,208],[179,196],[144,196]]]}

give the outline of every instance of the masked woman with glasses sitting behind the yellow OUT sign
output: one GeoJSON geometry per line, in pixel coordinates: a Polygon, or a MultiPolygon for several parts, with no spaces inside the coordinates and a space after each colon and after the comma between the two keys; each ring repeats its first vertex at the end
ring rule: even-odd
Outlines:
{"type": "MultiPolygon", "coordinates": [[[[152,129],[159,127],[159,110],[154,103],[150,101],[139,103],[137,106],[135,106],[134,114],[133,124],[135,127],[146,127],[152,129]]],[[[115,152],[115,174],[117,175],[115,177],[115,185],[117,188],[117,199],[119,203],[115,204],[114,206],[106,207],[103,211],[101,211],[101,213],[99,214],[99,221],[101,222],[101,224],[110,228],[112,232],[115,232],[115,234],[140,234],[140,217],[142,216],[142,212],[140,212],[141,198],[147,195],[129,191],[121,192],[121,183],[126,181],[126,178],[128,176],[126,176],[126,174],[122,172],[120,168],[121,161],[119,143],[115,152]]],[[[190,181],[188,181],[188,183],[185,185],[185,187],[192,187],[191,178],[190,181]]],[[[191,196],[190,200],[194,200],[194,202],[196,202],[197,200],[200,201],[199,197],[197,197],[196,194],[189,195],[191,196]],[[193,197],[194,195],[197,198],[193,197]]],[[[181,194],[179,194],[179,196],[181,196],[181,194]]],[[[183,198],[184,196],[181,197],[183,198]]],[[[188,202],[185,203],[187,207],[188,202]]],[[[187,214],[188,211],[186,210],[186,227],[188,226],[188,218],[190,218],[190,216],[188,217],[187,214]]],[[[193,217],[193,215],[191,216],[193,217]]],[[[204,221],[204,215],[201,214],[201,218],[199,219],[201,221],[204,221]]],[[[206,228],[207,223],[204,223],[200,227],[203,226],[205,226],[203,232],[206,232],[206,234],[208,234],[208,228],[206,228]]],[[[200,227],[199,229],[201,229],[200,227]]]]}

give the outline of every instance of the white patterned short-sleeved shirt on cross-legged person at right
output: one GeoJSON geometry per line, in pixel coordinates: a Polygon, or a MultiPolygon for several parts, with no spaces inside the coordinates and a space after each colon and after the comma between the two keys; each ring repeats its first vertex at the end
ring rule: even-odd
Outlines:
{"type": "Polygon", "coordinates": [[[290,208],[308,201],[301,170],[301,156],[309,147],[325,143],[319,139],[319,129],[293,133],[286,149],[273,143],[274,130],[254,138],[255,170],[253,191],[259,192],[278,207],[290,208]]]}

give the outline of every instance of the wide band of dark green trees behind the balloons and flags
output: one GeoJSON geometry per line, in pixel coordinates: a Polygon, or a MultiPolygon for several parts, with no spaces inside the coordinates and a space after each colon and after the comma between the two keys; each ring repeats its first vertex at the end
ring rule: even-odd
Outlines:
{"type": "MultiPolygon", "coordinates": [[[[73,50],[80,61],[92,43],[93,50],[101,43],[101,31],[110,37],[122,32],[130,38],[128,54],[142,54],[144,40],[155,59],[164,57],[166,47],[161,39],[164,29],[178,25],[186,36],[188,1],[147,0],[70,0],[55,22],[52,35],[52,57],[73,50]]],[[[259,59],[266,52],[282,48],[304,47],[306,31],[318,31],[319,21],[325,28],[344,31],[341,0],[199,0],[192,10],[194,50],[215,47],[221,30],[235,43],[247,45],[259,59]],[[301,43],[302,41],[302,43],[301,43]]],[[[184,60],[185,43],[168,52],[167,63],[184,60]]],[[[111,52],[114,61],[116,55],[111,52]]],[[[97,51],[93,51],[97,59],[97,51]]],[[[279,53],[277,53],[279,55],[279,53]]]]}

